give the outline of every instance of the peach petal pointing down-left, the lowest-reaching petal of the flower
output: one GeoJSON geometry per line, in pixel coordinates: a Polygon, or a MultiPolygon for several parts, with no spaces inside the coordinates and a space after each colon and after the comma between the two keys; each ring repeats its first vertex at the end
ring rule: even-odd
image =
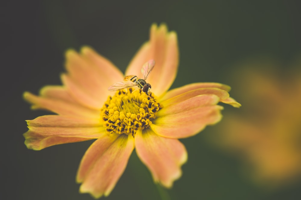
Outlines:
{"type": "Polygon", "coordinates": [[[130,134],[103,135],[86,151],[79,166],[77,182],[80,192],[91,193],[95,198],[108,196],[126,168],[134,149],[130,134]]]}

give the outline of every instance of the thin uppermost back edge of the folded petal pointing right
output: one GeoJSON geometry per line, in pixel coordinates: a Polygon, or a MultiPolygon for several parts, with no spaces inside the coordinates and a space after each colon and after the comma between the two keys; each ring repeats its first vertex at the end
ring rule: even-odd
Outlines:
{"type": "Polygon", "coordinates": [[[231,89],[230,86],[224,85],[224,84],[221,84],[221,83],[192,83],[192,84],[184,85],[180,88],[175,88],[175,89],[172,89],[172,90],[168,91],[161,98],[161,101],[170,99],[170,98],[175,97],[177,95],[183,94],[183,93],[191,91],[191,90],[199,89],[199,88],[219,88],[219,89],[225,90],[227,92],[229,92],[230,89],[231,89]]]}

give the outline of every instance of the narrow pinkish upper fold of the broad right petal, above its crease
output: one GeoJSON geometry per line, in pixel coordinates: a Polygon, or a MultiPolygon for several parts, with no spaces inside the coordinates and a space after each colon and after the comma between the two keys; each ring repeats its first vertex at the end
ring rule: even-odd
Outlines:
{"type": "Polygon", "coordinates": [[[203,106],[212,106],[219,103],[219,97],[214,94],[202,94],[195,97],[191,97],[187,100],[180,101],[178,103],[169,104],[158,111],[157,118],[165,115],[173,115],[186,110],[195,109],[203,106]]]}

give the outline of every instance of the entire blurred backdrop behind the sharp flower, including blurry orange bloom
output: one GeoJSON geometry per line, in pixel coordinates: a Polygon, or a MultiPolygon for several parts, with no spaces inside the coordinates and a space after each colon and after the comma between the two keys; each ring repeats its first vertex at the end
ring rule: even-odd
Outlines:
{"type": "Polygon", "coordinates": [[[123,72],[152,23],[178,33],[172,88],[221,82],[240,109],[181,140],[188,151],[172,189],[153,183],[135,152],[106,199],[301,198],[301,28],[297,1],[7,1],[1,6],[1,199],[93,199],[76,171],[93,141],[26,148],[22,99],[60,85],[64,52],[90,45],[123,72]],[[3,62],[4,61],[4,62],[3,62]],[[4,138],[3,138],[4,137],[4,138]]]}

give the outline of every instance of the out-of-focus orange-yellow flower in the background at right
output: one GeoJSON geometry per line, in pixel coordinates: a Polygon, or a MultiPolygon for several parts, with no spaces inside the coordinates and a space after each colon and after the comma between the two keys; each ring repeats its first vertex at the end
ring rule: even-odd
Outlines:
{"type": "Polygon", "coordinates": [[[261,64],[239,72],[236,81],[243,88],[237,96],[244,108],[227,115],[212,137],[243,158],[253,180],[266,186],[291,182],[301,173],[301,73],[276,71],[261,64]]]}

